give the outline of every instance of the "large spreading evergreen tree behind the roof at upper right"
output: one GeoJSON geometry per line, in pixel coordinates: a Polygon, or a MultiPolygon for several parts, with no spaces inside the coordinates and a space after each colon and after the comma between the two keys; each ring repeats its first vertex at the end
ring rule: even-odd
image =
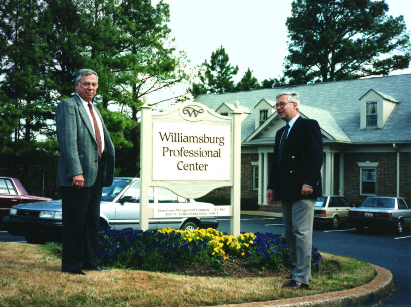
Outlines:
{"type": "Polygon", "coordinates": [[[287,18],[291,84],[388,75],[411,59],[403,16],[371,0],[295,0],[287,18]]]}

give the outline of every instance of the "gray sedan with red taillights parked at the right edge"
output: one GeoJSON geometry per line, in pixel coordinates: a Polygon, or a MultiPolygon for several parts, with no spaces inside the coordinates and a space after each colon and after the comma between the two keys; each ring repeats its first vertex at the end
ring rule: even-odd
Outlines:
{"type": "Polygon", "coordinates": [[[360,207],[350,209],[348,215],[357,231],[364,227],[385,227],[400,234],[404,226],[411,224],[411,201],[403,197],[367,197],[360,207]]]}

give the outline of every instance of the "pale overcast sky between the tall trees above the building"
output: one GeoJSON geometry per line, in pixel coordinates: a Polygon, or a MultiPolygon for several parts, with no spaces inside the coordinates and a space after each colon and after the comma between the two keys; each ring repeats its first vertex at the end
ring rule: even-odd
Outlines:
{"type": "MultiPolygon", "coordinates": [[[[250,68],[261,83],[282,76],[287,55],[287,28],[292,0],[164,0],[170,5],[171,37],[190,65],[209,62],[223,46],[231,65],[238,65],[238,82],[250,68]]],[[[158,0],[152,0],[158,3],[158,0]]],[[[411,1],[386,0],[389,14],[404,15],[411,27],[411,1]]],[[[411,69],[400,72],[411,73],[411,69]]],[[[151,99],[150,99],[151,100],[151,99]]],[[[152,101],[154,102],[154,101],[152,101]]]]}

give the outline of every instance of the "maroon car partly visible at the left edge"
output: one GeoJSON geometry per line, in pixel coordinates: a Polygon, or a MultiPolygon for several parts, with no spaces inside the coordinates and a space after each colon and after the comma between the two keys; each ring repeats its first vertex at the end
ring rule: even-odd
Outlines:
{"type": "Polygon", "coordinates": [[[48,197],[29,195],[17,178],[0,177],[0,225],[14,205],[51,200],[48,197]]]}

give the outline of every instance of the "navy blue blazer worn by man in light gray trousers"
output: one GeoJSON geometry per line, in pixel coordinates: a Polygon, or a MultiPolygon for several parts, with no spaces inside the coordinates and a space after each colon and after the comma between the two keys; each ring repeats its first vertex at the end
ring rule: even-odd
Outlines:
{"type": "Polygon", "coordinates": [[[284,127],[275,135],[274,157],[267,189],[273,190],[274,201],[297,201],[322,196],[321,166],[323,142],[318,122],[301,116],[290,130],[282,161],[278,165],[278,151],[284,127]],[[301,195],[303,185],[313,187],[311,195],[301,195]]]}

